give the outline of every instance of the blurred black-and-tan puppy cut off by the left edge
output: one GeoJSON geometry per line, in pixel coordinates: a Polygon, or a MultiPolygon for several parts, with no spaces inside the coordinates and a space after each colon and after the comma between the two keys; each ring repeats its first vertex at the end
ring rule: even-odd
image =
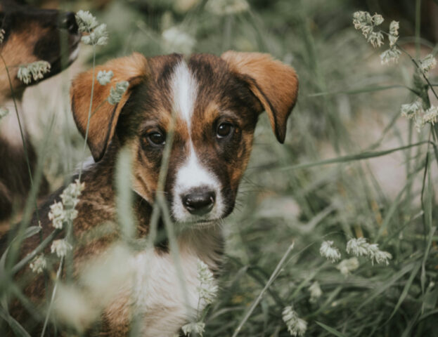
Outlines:
{"type": "MultiPolygon", "coordinates": [[[[18,66],[46,60],[50,63],[51,70],[44,75],[44,79],[58,74],[77,58],[79,34],[74,13],[40,10],[18,5],[13,1],[0,1],[0,29],[4,30],[0,53],[8,66],[13,87],[11,91],[4,62],[0,60],[0,107],[9,110],[8,116],[0,121],[0,220],[6,220],[11,216],[14,205],[16,210],[19,209],[31,186],[13,97],[17,104],[32,173],[37,164],[37,156],[26,131],[25,114],[21,109],[20,101],[27,85],[17,77],[18,66]]],[[[37,82],[32,79],[28,85],[37,82]]],[[[49,192],[49,184],[45,178],[39,192],[49,192]]]]}

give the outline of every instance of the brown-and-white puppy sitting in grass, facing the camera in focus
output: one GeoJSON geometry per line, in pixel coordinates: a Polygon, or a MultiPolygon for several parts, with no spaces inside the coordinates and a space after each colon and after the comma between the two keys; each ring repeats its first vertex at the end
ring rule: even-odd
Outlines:
{"type": "MultiPolygon", "coordinates": [[[[84,261],[103,254],[120,237],[116,231],[89,242],[85,239],[98,225],[117,223],[114,175],[117,153],[122,148],[132,157],[136,234],[147,237],[163,150],[172,131],[164,192],[178,232],[189,308],[180,291],[172,251],[161,243],[151,251],[136,251],[120,265],[121,270],[126,272],[127,267],[135,276],[129,272],[129,277],[122,277],[101,312],[99,332],[94,332],[101,333],[99,336],[128,336],[136,317],[141,336],[174,336],[205,306],[197,289],[198,259],[212,272],[221,265],[224,239],[219,222],[233,211],[257,118],[266,111],[273,133],[283,143],[286,121],[297,99],[297,76],[291,67],[270,55],[234,51],[221,57],[195,54],[190,58],[179,54],[145,58],[134,53],[111,60],[94,73],[99,70],[112,70],[114,77],[106,86],[94,83],[93,107],[98,108],[89,121],[87,142],[96,164],[82,174],[85,188],[72,226],[75,239],[82,242],[73,253],[75,275],[80,274],[84,261]],[[129,81],[129,88],[117,105],[110,105],[105,99],[118,81],[129,81]],[[188,230],[178,230],[181,227],[188,230]]],[[[90,70],[79,74],[71,88],[72,113],[83,135],[92,81],[90,70]]],[[[59,201],[59,194],[39,211],[43,237],[53,230],[46,214],[50,204],[59,201]]],[[[27,239],[22,256],[37,244],[37,236],[27,239]]],[[[50,255],[49,251],[46,254],[50,255]]],[[[32,300],[49,296],[42,277],[32,279],[24,291],[32,300]]],[[[90,303],[96,300],[94,295],[89,292],[90,303]]],[[[23,322],[20,312],[15,317],[23,322]]]]}

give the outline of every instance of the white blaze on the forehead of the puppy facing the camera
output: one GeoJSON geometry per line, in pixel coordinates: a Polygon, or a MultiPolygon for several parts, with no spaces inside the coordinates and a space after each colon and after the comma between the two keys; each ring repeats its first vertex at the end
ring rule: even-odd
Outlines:
{"type": "Polygon", "coordinates": [[[189,130],[197,91],[198,84],[186,62],[179,62],[172,75],[173,108],[186,121],[189,130]]]}

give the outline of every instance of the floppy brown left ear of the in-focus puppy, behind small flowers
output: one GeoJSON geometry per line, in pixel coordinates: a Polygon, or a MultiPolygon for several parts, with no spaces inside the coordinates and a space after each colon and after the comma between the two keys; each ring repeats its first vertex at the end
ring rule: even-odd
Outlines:
{"type": "MultiPolygon", "coordinates": [[[[146,58],[134,53],[125,58],[110,60],[94,70],[94,93],[91,105],[91,118],[89,121],[89,133],[86,142],[95,161],[99,161],[114,135],[117,119],[124,104],[127,102],[131,89],[139,84],[148,73],[146,58]],[[102,86],[96,77],[100,70],[112,71],[114,76],[110,83],[102,86]],[[111,105],[105,101],[110,95],[111,87],[120,81],[128,81],[129,88],[122,95],[119,103],[111,105]]],[[[91,86],[93,84],[93,70],[79,74],[72,83],[70,96],[72,99],[72,112],[77,128],[85,136],[86,125],[89,119],[89,107],[91,101],[91,86]]]]}

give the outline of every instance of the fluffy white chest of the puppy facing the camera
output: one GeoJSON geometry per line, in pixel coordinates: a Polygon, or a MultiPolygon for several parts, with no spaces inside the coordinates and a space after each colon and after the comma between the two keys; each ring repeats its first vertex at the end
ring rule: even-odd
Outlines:
{"type": "Polygon", "coordinates": [[[142,317],[143,336],[174,336],[205,308],[200,298],[198,256],[180,251],[180,268],[169,253],[145,251],[132,261],[132,299],[142,317]]]}

